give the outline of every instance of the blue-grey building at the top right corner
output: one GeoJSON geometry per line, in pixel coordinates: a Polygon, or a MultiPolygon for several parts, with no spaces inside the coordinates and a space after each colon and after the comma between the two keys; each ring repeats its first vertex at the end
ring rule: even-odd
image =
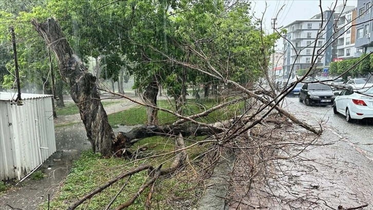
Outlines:
{"type": "Polygon", "coordinates": [[[373,39],[370,35],[373,35],[372,27],[372,13],[371,13],[372,2],[370,0],[358,0],[357,6],[357,19],[356,19],[356,57],[359,57],[362,53],[369,53],[373,50],[373,39]]]}

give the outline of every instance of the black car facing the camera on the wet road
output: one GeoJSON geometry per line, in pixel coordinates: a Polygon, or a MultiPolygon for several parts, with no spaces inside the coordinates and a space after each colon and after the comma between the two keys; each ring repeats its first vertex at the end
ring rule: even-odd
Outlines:
{"type": "Polygon", "coordinates": [[[306,83],[302,86],[299,101],[307,106],[333,104],[335,95],[330,86],[321,83],[306,83]]]}

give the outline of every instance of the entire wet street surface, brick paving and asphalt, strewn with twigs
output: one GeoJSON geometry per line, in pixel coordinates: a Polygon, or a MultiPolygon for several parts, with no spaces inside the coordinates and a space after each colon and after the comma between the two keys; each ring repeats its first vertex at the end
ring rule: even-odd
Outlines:
{"type": "MultiPolygon", "coordinates": [[[[330,106],[307,107],[298,98],[286,98],[284,107],[308,124],[323,124],[323,134],[313,142],[316,145],[277,148],[272,155],[278,158],[266,161],[266,167],[256,165],[254,178],[241,179],[246,182],[236,186],[230,209],[340,209],[364,204],[368,206],[359,209],[373,209],[372,124],[349,124],[330,106]],[[240,186],[246,188],[237,192],[240,186]]],[[[296,141],[294,134],[301,132],[305,129],[293,127],[283,136],[296,141]]]]}

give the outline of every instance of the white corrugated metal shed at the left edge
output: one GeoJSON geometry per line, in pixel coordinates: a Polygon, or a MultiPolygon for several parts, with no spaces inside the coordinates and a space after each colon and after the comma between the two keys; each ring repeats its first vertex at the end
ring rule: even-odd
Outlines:
{"type": "Polygon", "coordinates": [[[56,151],[52,96],[0,92],[0,180],[21,180],[56,151]]]}

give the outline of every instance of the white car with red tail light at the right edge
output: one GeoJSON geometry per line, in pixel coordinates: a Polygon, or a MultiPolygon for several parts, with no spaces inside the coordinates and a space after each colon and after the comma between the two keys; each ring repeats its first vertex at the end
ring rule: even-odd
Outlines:
{"type": "Polygon", "coordinates": [[[346,85],[334,99],[333,112],[343,114],[348,122],[373,118],[373,83],[346,85]]]}

